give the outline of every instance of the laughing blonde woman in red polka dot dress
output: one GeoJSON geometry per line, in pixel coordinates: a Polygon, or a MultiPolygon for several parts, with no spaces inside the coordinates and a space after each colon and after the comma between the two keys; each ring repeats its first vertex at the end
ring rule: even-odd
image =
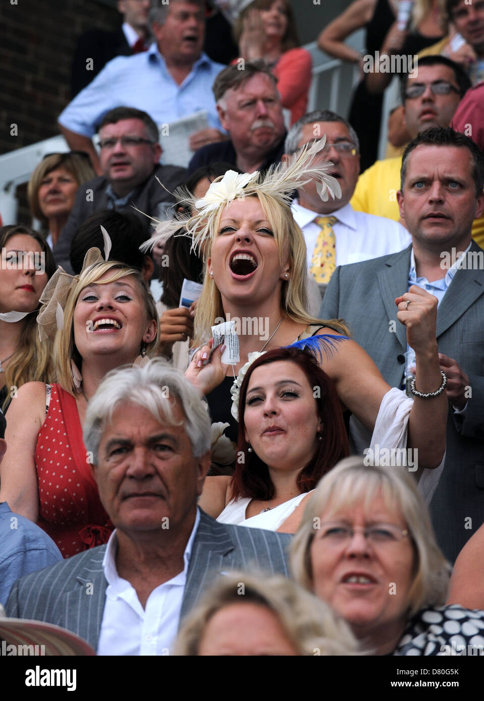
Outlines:
{"type": "Polygon", "coordinates": [[[159,341],[140,273],[97,258],[79,279],[58,271],[46,287],[39,326],[41,336],[55,336],[58,382],[18,390],[1,465],[0,501],[37,522],[64,557],[107,543],[113,529],[83,444],[87,402],[107,372],[153,357],[159,341]]]}

